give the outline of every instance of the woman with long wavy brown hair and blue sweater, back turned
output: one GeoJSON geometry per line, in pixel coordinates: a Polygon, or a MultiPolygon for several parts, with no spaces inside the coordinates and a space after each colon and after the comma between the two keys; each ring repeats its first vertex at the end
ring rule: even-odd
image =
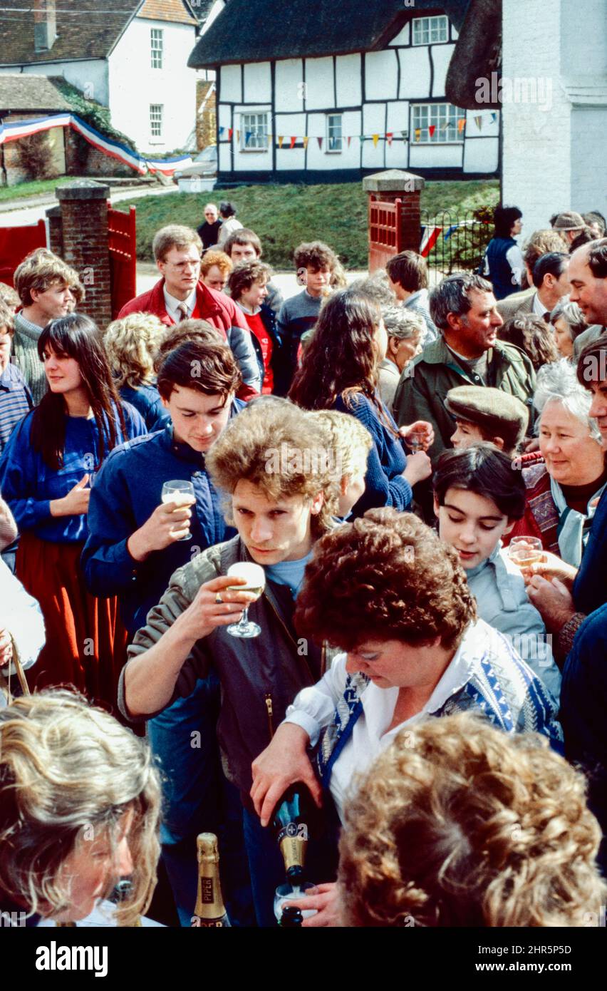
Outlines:
{"type": "Polygon", "coordinates": [[[399,431],[377,392],[387,345],[378,303],[352,289],[335,292],[321,310],[289,391],[289,398],[304,409],[351,413],[371,434],[365,490],[354,505],[354,516],[374,506],[408,509],[412,487],[431,474],[424,451],[405,456],[403,439],[413,442],[412,434],[419,431],[421,446],[429,447],[432,427],[418,420],[399,431]]]}

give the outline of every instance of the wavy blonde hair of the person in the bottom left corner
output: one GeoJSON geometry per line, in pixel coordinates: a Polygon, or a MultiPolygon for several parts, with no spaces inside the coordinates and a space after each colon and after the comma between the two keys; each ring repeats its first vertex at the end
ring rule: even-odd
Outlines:
{"type": "Polygon", "coordinates": [[[133,810],[133,883],[117,919],[135,925],[155,886],[159,801],[148,744],[81,696],[45,691],[0,711],[0,891],[30,915],[69,912],[61,865],[89,832],[107,834],[116,849],[120,820],[133,810]]]}

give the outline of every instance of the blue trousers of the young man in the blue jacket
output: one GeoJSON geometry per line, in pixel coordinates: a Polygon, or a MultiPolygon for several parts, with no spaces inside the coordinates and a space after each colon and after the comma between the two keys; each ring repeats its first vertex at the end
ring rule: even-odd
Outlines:
{"type": "Polygon", "coordinates": [[[219,680],[211,673],[198,680],[191,695],[148,723],[162,777],[162,857],[183,927],[190,926],[196,904],[199,832],[219,837],[222,889],[232,925],[254,926],[242,806],[222,772],[217,743],[220,702],[219,680]]]}

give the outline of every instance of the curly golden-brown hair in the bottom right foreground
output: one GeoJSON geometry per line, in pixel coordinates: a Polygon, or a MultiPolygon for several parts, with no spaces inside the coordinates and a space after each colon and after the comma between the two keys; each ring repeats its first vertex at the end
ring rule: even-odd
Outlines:
{"type": "Polygon", "coordinates": [[[536,733],[468,713],[404,729],[340,842],[352,926],[576,927],[607,894],[582,775],[536,733]]]}

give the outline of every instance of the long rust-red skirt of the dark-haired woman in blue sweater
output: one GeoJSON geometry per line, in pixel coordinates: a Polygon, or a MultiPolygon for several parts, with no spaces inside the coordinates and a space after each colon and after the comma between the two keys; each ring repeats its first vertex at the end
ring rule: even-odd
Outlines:
{"type": "Polygon", "coordinates": [[[16,572],[40,603],[47,643],[27,672],[32,690],[73,685],[91,702],[116,709],[127,632],[118,601],[89,595],[80,570],[83,544],[54,544],[31,532],[21,535],[16,572]]]}

